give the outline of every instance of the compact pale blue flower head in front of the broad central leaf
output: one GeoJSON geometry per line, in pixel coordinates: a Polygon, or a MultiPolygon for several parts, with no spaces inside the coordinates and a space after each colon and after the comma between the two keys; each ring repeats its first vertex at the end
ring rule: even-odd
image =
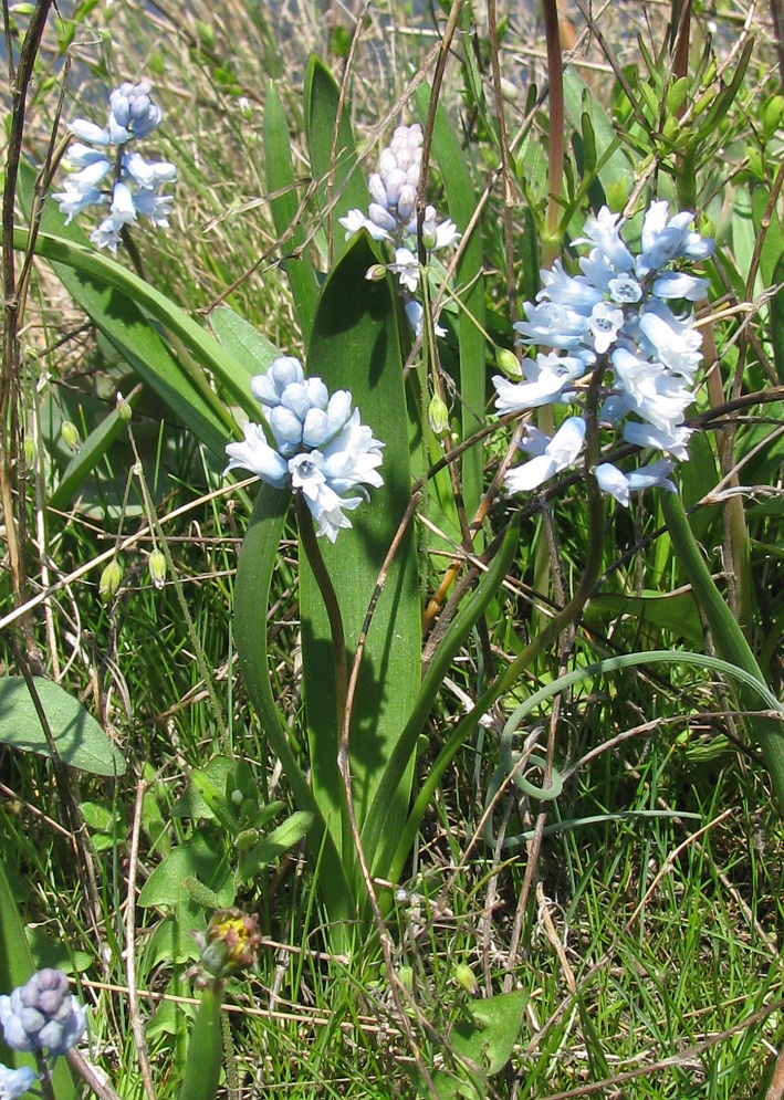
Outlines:
{"type": "Polygon", "coordinates": [[[384,443],[359,422],[348,390],[330,396],[322,379],[305,378],[292,356],[281,356],[266,374],[252,378],[251,392],[261,405],[266,430],[245,423],[244,441],[226,448],[226,472],[250,470],[274,489],[302,493],[316,534],[334,543],[341,528],[352,525],[344,511],[368,499],[365,485],[384,484],[378,472],[384,443]],[[352,490],[359,495],[343,495],[352,490]]]}

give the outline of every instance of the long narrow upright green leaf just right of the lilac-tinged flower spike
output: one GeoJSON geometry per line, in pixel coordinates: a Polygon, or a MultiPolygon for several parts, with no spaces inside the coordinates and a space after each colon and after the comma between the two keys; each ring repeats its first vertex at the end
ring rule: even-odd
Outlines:
{"type": "MultiPolygon", "coordinates": [[[[417,90],[417,106],[422,122],[427,118],[430,88],[417,90]]],[[[466,232],[477,209],[477,195],[466,155],[446,111],[436,111],[432,153],[438,163],[447,196],[449,216],[461,233],[466,232]]],[[[474,229],[454,272],[460,311],[460,366],[458,383],[459,416],[462,438],[468,439],[484,423],[487,394],[487,346],[484,339],[484,279],[482,276],[482,239],[474,229]]],[[[456,410],[457,411],[457,410],[456,410]]],[[[473,517],[482,494],[482,444],[470,448],[461,463],[462,493],[469,521],[473,517]]]]}

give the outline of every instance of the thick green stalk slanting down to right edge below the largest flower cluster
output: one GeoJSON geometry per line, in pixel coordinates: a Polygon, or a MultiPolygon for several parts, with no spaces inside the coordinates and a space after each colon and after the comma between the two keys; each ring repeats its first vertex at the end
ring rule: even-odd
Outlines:
{"type": "MultiPolygon", "coordinates": [[[[738,666],[764,683],[760,666],[743,631],[713,583],[689,526],[680,496],[666,493],[661,501],[661,511],[672,549],[705,617],[717,652],[725,661],[738,666]]],[[[738,691],[744,709],[751,711],[757,706],[757,701],[752,698],[750,689],[742,684],[738,691]]],[[[752,719],[751,725],[771,776],[776,806],[780,813],[784,813],[784,729],[781,721],[762,716],[752,719]]]]}

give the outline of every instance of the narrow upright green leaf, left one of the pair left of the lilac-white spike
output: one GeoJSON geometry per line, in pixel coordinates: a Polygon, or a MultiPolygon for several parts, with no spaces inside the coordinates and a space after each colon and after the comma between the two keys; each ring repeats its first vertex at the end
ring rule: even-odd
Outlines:
{"type": "MultiPolygon", "coordinates": [[[[266,90],[263,140],[264,179],[266,180],[266,191],[271,196],[270,210],[272,211],[272,221],[274,222],[278,235],[283,237],[296,217],[300,197],[295,190],[296,180],[291,159],[289,123],[283,112],[283,104],[278,95],[278,88],[272,83],[269,84],[266,90]]],[[[299,226],[283,248],[286,252],[301,249],[304,240],[305,233],[302,226],[299,226]]],[[[284,260],[282,266],[289,276],[289,285],[294,297],[294,307],[296,308],[302,331],[302,339],[306,344],[311,337],[313,316],[316,312],[316,301],[318,298],[316,273],[313,270],[313,264],[305,254],[301,254],[299,259],[284,260]]]]}

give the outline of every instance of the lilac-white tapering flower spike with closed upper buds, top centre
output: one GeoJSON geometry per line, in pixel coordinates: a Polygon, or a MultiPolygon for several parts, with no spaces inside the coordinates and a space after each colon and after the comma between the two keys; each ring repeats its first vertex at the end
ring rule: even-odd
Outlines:
{"type": "MultiPolygon", "coordinates": [[[[367,214],[362,210],[349,210],[339,222],[346,230],[346,240],[366,229],[375,241],[391,241],[395,245],[395,263],[389,271],[397,275],[406,303],[406,314],[419,335],[422,324],[422,306],[414,295],[419,286],[420,271],[416,255],[417,248],[417,188],[422,159],[422,128],[419,123],[412,126],[398,126],[391,142],[381,149],[378,168],[367,181],[372,202],[367,214]]],[[[450,248],[460,240],[453,221],[439,222],[436,208],[428,206],[422,223],[422,244],[428,253],[450,248]]],[[[439,329],[439,335],[443,331],[439,329]]]]}

